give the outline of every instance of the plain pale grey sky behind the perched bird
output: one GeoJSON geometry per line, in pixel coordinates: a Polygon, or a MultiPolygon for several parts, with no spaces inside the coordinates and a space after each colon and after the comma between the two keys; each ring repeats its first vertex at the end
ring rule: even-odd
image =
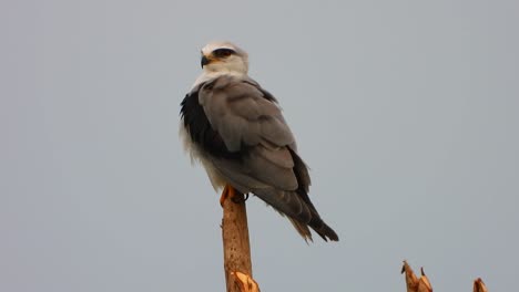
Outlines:
{"type": "Polygon", "coordinates": [[[0,291],[218,291],[221,207],[177,138],[200,49],[284,107],[342,241],[248,201],[264,291],[519,278],[516,1],[2,1],[0,291]]]}

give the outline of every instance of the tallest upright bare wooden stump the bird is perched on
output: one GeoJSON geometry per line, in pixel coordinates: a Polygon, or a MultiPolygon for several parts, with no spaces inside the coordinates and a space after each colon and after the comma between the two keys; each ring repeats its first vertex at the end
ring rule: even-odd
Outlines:
{"type": "MultiPolygon", "coordinates": [[[[224,249],[224,269],[227,292],[258,291],[250,290],[247,282],[241,281],[238,274],[248,275],[252,280],[251,244],[248,241],[247,211],[242,194],[233,194],[223,201],[222,239],[224,249]]],[[[257,284],[256,284],[257,288],[257,284]]],[[[252,286],[254,289],[254,286],[252,286]]]]}

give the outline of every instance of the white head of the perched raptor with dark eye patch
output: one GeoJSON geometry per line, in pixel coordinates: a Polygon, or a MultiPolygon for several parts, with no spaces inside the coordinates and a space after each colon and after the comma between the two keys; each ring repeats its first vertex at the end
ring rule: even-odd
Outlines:
{"type": "Polygon", "coordinates": [[[202,49],[202,69],[207,73],[247,74],[248,55],[231,42],[211,42],[202,49]]]}

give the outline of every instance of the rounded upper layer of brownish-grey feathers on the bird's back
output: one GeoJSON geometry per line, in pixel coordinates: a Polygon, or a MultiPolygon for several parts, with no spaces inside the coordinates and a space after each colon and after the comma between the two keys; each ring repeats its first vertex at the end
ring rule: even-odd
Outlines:
{"type": "Polygon", "coordinates": [[[215,79],[201,87],[199,102],[231,152],[264,139],[277,146],[294,144],[278,105],[253,83],[232,76],[215,79]]]}

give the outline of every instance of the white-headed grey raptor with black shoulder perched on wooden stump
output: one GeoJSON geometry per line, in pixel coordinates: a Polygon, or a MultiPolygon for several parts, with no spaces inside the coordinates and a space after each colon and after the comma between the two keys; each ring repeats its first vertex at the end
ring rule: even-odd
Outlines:
{"type": "Polygon", "coordinates": [[[253,194],[285,216],[305,241],[313,229],[338,241],[312,204],[308,167],[278,101],[248,76],[248,54],[227,41],[201,51],[202,74],[181,102],[180,136],[192,163],[200,161],[221,204],[253,194]]]}

